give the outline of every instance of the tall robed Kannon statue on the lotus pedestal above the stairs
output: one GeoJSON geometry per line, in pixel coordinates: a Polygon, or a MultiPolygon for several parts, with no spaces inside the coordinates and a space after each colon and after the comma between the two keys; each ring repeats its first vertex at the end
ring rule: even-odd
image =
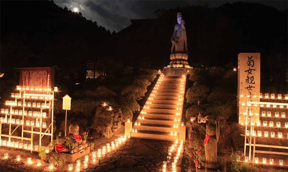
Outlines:
{"type": "Polygon", "coordinates": [[[171,54],[188,53],[185,21],[182,19],[182,13],[177,13],[177,24],[174,26],[171,42],[171,54]]]}

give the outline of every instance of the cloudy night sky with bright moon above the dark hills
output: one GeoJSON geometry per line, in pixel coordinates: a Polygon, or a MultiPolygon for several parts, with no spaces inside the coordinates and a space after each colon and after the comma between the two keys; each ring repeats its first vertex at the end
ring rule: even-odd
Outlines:
{"type": "MultiPolygon", "coordinates": [[[[94,0],[55,0],[60,7],[78,10],[88,20],[96,21],[110,31],[116,32],[130,25],[130,19],[155,18],[156,9],[170,9],[191,5],[208,4],[218,7],[225,3],[239,1],[94,1],[94,0]]],[[[243,1],[242,1],[243,2],[243,1]]],[[[287,9],[287,1],[244,1],[272,6],[279,10],[287,9]]]]}

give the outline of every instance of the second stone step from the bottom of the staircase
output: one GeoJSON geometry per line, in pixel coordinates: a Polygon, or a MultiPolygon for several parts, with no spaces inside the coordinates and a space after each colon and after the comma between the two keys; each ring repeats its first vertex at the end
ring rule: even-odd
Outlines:
{"type": "Polygon", "coordinates": [[[133,128],[137,128],[138,131],[154,131],[154,132],[165,132],[170,133],[171,131],[174,133],[178,131],[177,129],[173,128],[173,126],[169,125],[145,125],[141,124],[140,126],[135,126],[133,128]]]}

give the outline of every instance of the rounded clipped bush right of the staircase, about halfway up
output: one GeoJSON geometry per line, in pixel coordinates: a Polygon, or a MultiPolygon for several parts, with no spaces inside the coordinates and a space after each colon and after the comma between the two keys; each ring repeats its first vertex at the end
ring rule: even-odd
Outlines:
{"type": "Polygon", "coordinates": [[[192,86],[187,90],[186,101],[188,104],[197,104],[197,101],[205,102],[210,89],[205,85],[192,86]]]}

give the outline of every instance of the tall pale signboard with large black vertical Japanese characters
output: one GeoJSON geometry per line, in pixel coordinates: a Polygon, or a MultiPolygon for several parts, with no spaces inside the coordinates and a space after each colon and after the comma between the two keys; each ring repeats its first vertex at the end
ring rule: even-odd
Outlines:
{"type": "Polygon", "coordinates": [[[247,101],[259,101],[257,98],[259,93],[260,53],[238,54],[238,114],[240,124],[245,124],[246,115],[248,115],[249,121],[257,122],[259,120],[259,106],[247,106],[247,101]]]}

